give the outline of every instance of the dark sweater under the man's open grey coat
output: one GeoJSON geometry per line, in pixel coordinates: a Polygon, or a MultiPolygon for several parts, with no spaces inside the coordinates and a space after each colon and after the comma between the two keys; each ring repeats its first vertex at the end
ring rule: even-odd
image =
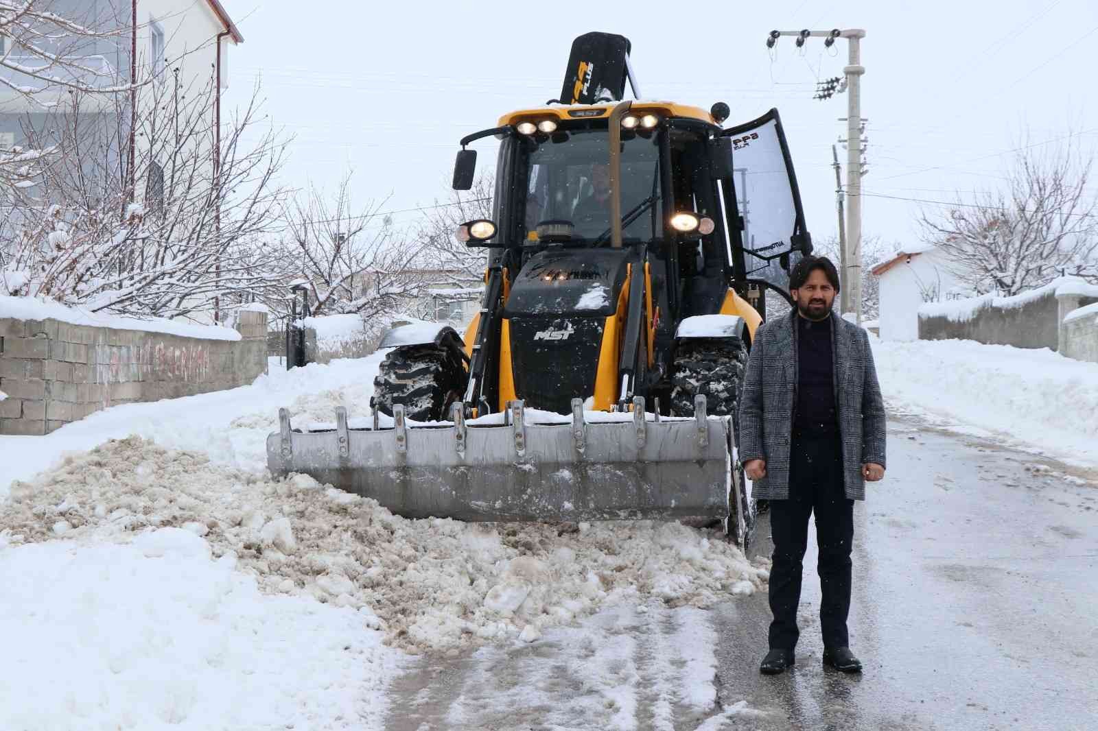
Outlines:
{"type": "Polygon", "coordinates": [[[834,358],[831,316],[797,320],[797,412],[794,429],[808,436],[834,436],[839,431],[834,409],[834,358]]]}

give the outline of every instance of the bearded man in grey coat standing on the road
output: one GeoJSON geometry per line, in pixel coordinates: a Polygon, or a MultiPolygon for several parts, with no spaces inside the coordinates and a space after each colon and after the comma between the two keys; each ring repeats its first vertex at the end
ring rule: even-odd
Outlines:
{"type": "Polygon", "coordinates": [[[831,313],[834,265],[804,257],[789,288],[796,310],[759,328],[740,403],[739,458],[754,497],[770,501],[774,539],[774,620],[759,670],[775,675],[795,662],[800,562],[815,513],[824,663],[859,673],[847,634],[853,510],[865,482],[885,474],[884,402],[865,330],[831,313]]]}

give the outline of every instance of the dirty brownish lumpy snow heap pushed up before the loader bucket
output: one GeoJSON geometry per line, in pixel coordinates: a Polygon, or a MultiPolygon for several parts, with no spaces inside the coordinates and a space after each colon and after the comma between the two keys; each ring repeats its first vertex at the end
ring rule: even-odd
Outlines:
{"type": "MultiPolygon", "coordinates": [[[[537,639],[617,603],[706,607],[764,586],[713,531],[676,522],[406,520],[312,477],[271,481],[138,437],[68,457],[0,506],[9,543],[178,527],[267,593],[351,607],[411,651],[537,639]]],[[[187,584],[180,583],[179,586],[187,584]]]]}

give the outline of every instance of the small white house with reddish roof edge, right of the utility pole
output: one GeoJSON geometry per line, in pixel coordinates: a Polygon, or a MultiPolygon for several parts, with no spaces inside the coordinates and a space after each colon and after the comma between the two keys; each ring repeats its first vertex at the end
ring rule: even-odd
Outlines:
{"type": "Polygon", "coordinates": [[[874,265],[879,283],[879,335],[884,340],[917,340],[919,306],[967,296],[956,265],[929,244],[906,246],[874,265]]]}

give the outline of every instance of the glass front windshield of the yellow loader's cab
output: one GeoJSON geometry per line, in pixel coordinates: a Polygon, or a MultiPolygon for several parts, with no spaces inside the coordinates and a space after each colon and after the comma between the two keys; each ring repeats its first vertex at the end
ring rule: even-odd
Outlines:
{"type": "MultiPolygon", "coordinates": [[[[526,140],[524,238],[536,240],[539,223],[570,221],[573,240],[609,240],[608,136],[606,130],[576,130],[526,140]]],[[[658,135],[623,133],[624,241],[649,241],[658,230],[659,159],[658,135]]]]}

